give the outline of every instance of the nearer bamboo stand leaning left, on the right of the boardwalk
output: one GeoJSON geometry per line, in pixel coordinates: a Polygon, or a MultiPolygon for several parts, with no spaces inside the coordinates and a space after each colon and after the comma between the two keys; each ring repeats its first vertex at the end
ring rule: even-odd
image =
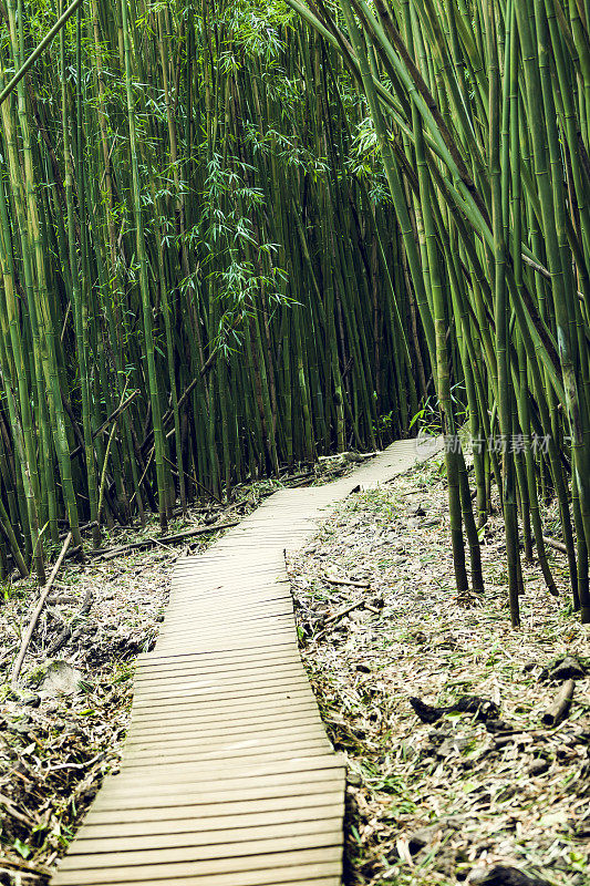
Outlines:
{"type": "Polygon", "coordinates": [[[539,512],[553,496],[587,622],[590,4],[288,3],[338,50],[366,100],[436,368],[458,589],[464,539],[480,588],[477,527],[494,476],[513,625],[520,538],[557,593],[539,512]],[[477,443],[475,517],[455,445],[457,360],[477,443]]]}

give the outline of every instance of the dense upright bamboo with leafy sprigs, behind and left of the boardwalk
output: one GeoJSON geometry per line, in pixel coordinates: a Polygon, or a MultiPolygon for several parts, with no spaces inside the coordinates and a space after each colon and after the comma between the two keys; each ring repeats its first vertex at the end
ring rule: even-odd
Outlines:
{"type": "Polygon", "coordinates": [[[69,11],[0,4],[0,565],[41,581],[60,530],[403,434],[429,374],[338,53],[284,6],[84,0],[44,40],[69,11]]]}

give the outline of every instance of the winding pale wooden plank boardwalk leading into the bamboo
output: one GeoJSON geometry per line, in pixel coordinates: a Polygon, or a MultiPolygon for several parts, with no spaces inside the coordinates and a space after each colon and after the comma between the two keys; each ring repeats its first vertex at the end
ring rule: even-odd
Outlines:
{"type": "Polygon", "coordinates": [[[280,491],[179,560],[156,647],[139,657],[121,772],[54,886],[340,886],[345,767],[301,664],[283,552],[355,486],[437,446],[394,443],[348,477],[280,491]]]}

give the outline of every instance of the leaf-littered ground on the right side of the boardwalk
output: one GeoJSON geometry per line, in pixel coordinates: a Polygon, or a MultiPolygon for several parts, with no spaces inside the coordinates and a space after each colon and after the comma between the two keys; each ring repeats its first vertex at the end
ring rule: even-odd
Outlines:
{"type": "MultiPolygon", "coordinates": [[[[545,516],[546,532],[557,528],[545,516]]],[[[349,761],[349,884],[588,884],[588,677],[569,715],[541,724],[559,691],[547,670],[575,656],[590,673],[588,626],[567,604],[566,558],[553,552],[561,599],[525,565],[522,628],[511,630],[504,555],[494,516],[485,595],[457,599],[439,456],[350,496],[290,557],[303,659],[349,761]],[[487,725],[485,704],[479,718],[447,712],[428,724],[410,703],[453,707],[462,696],[493,702],[487,725]]]]}

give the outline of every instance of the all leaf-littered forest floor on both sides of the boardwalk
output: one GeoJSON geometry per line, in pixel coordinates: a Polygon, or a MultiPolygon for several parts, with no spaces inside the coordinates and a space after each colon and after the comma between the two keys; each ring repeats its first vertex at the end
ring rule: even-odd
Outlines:
{"type": "MultiPolygon", "coordinates": [[[[327,460],[286,484],[325,482],[343,470],[339,460],[327,460]]],[[[229,507],[195,508],[170,532],[238,519],[280,485],[238,488],[229,507]]],[[[548,532],[551,519],[547,514],[548,532]]],[[[112,532],[107,540],[122,545],[156,533],[151,524],[112,532]]],[[[69,564],[17,693],[9,676],[33,584],[4,587],[0,883],[45,883],[102,779],[116,771],[134,659],[155,641],[174,564],[217,537],[211,532],[180,545],[69,564]],[[48,656],[64,627],[70,639],[48,656]]],[[[569,717],[551,730],[539,728],[540,717],[558,686],[539,677],[566,655],[587,667],[588,631],[566,605],[565,557],[557,553],[552,568],[562,600],[526,567],[524,627],[510,631],[503,545],[500,521],[493,517],[484,542],[485,597],[459,602],[445,481],[435,459],[380,491],[351,496],[290,556],[303,658],[330,736],[349,760],[351,885],[475,883],[497,864],[537,873],[552,886],[587,883],[589,680],[577,681],[569,717]],[[462,694],[498,704],[504,731],[456,713],[427,725],[408,701],[415,696],[448,704],[462,694]]]]}

